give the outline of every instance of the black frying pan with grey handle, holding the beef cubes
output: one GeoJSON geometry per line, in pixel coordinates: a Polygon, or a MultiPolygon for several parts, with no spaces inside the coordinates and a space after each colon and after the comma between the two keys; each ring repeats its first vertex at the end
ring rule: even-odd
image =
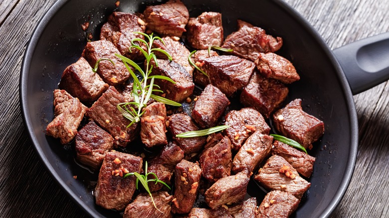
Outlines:
{"type": "MultiPolygon", "coordinates": [[[[96,175],[78,166],[71,149],[47,137],[44,131],[54,116],[52,92],[63,70],[80,57],[86,44],[81,24],[90,18],[87,32],[98,39],[101,25],[114,10],[143,11],[145,5],[153,2],[122,0],[116,8],[115,1],[58,0],[36,27],[20,75],[23,118],[36,151],[54,180],[93,217],[119,214],[95,205],[91,191],[96,175]],[[78,176],[77,180],[74,175],[78,176]]],[[[291,60],[301,76],[300,81],[289,86],[286,101],[301,98],[303,109],[324,120],[326,128],[321,141],[310,151],[317,158],[310,179],[312,186],[293,216],[328,217],[348,187],[356,160],[358,123],[352,94],[388,79],[385,65],[375,62],[385,57],[377,57],[377,50],[382,51],[380,43],[389,44],[385,41],[388,34],[335,50],[347,75],[358,72],[358,77],[348,76],[347,81],[341,65],[320,35],[281,0],[184,0],[184,3],[191,16],[203,11],[221,12],[226,34],[236,29],[239,18],[283,37],[284,45],[277,53],[291,60]]],[[[248,193],[259,198],[264,196],[255,185],[249,187],[248,193]]]]}

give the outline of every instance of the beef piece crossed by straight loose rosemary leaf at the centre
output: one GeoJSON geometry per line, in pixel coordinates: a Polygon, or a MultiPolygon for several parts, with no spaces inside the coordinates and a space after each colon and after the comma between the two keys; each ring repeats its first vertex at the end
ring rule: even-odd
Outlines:
{"type": "Polygon", "coordinates": [[[192,118],[182,113],[176,113],[168,117],[168,130],[172,134],[173,139],[183,149],[185,154],[193,154],[201,150],[202,146],[206,143],[205,136],[180,138],[176,137],[177,134],[189,131],[200,130],[197,125],[192,121],[192,118]]]}

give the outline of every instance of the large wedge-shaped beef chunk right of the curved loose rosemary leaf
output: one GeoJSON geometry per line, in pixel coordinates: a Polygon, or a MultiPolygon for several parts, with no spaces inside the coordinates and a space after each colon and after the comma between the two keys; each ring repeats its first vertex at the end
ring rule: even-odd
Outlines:
{"type": "Polygon", "coordinates": [[[227,97],[248,84],[255,64],[232,55],[213,56],[203,59],[202,70],[208,74],[210,84],[227,97]]]}

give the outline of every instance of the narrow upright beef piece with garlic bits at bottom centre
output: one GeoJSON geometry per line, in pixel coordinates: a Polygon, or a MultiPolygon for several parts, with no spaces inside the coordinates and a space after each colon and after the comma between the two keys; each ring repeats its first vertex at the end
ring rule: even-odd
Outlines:
{"type": "Polygon", "coordinates": [[[189,213],[196,200],[201,169],[196,163],[182,160],[174,171],[175,187],[173,199],[173,213],[189,213]]]}

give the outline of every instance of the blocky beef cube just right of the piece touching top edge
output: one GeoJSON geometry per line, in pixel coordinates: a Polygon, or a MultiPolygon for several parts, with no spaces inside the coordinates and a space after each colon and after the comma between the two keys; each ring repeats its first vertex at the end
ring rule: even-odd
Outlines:
{"type": "Polygon", "coordinates": [[[203,12],[196,18],[191,17],[187,29],[188,44],[195,49],[208,49],[223,43],[221,13],[203,12]]]}

